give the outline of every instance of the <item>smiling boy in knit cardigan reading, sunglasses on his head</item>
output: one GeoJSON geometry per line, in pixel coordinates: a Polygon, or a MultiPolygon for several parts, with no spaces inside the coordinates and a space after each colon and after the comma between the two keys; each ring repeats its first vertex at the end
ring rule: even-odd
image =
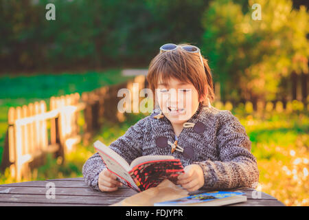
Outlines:
{"type": "MultiPolygon", "coordinates": [[[[179,175],[178,184],[188,191],[255,188],[259,171],[249,137],[230,111],[211,106],[211,72],[198,47],[163,45],[150,63],[147,79],[155,94],[155,109],[110,148],[129,164],[141,155],[179,158],[185,173],[179,175]]],[[[87,160],[82,172],[95,190],[110,192],[120,186],[98,153],[87,160]]]]}

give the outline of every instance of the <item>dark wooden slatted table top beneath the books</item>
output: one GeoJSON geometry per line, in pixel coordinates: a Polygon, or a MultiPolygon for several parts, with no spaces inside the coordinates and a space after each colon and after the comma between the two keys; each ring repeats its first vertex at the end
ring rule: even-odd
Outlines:
{"type": "MultiPolygon", "coordinates": [[[[284,206],[271,195],[252,188],[237,188],[233,191],[245,192],[247,202],[231,206],[284,206]]],[[[93,191],[82,178],[26,181],[0,185],[0,206],[108,206],[135,193],[126,186],[115,192],[93,191]],[[51,186],[55,188],[49,188],[51,186]],[[54,198],[51,190],[55,192],[54,198]]]]}

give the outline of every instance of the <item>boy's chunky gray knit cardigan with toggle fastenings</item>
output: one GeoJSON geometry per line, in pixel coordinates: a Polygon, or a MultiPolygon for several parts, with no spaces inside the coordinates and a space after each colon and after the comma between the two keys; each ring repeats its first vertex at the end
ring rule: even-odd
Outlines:
{"type": "MultiPolygon", "coordinates": [[[[193,127],[183,127],[178,145],[184,151],[171,153],[168,141],[174,143],[176,135],[170,121],[154,109],[146,118],[139,120],[109,147],[119,153],[130,164],[142,155],[173,155],[183,166],[198,164],[204,172],[203,189],[250,187],[258,184],[259,171],[256,158],[251,154],[251,141],[238,118],[227,110],[218,110],[200,104],[187,122],[193,127]]],[[[104,169],[98,153],[85,162],[84,180],[94,190],[104,169]]]]}

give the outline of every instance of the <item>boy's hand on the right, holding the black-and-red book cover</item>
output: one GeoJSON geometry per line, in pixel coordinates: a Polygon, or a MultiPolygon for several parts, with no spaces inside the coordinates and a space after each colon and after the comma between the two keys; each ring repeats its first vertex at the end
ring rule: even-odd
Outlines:
{"type": "Polygon", "coordinates": [[[204,186],[204,172],[198,164],[185,166],[185,173],[178,176],[177,184],[192,192],[204,186]]]}

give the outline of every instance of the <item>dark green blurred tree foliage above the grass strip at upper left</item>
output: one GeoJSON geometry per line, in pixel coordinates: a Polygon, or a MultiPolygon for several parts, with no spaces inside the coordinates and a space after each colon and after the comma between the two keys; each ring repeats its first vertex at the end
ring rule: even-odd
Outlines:
{"type": "Polygon", "coordinates": [[[5,70],[145,67],[163,43],[201,43],[203,0],[0,0],[5,70]]]}

